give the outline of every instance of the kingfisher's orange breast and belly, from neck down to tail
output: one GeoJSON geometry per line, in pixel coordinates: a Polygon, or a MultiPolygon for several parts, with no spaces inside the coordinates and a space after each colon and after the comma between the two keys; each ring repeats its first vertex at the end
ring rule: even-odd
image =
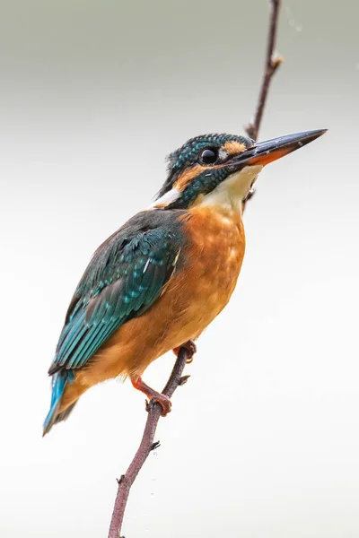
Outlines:
{"type": "Polygon", "coordinates": [[[64,409],[109,377],[142,375],[163,353],[196,339],[228,303],[244,256],[241,216],[198,205],[182,219],[188,240],[162,296],[119,327],[86,369],[75,372],[64,409]]]}

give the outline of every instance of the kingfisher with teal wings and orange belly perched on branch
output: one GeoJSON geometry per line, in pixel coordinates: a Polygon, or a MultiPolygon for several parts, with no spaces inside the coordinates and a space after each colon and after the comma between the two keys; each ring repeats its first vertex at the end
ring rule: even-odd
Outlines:
{"type": "Polygon", "coordinates": [[[257,143],[235,134],[191,138],[168,157],[150,207],[96,250],[74,291],[48,374],[52,396],[44,435],[80,395],[113,377],[171,410],[144,370],[194,342],[232,296],[245,249],[242,210],[258,174],[326,129],[257,143]]]}

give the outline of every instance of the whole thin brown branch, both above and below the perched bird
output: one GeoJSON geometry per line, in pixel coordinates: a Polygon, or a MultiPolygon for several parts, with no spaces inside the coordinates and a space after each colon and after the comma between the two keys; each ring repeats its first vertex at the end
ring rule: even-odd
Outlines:
{"type": "MultiPolygon", "coordinates": [[[[267,38],[265,70],[263,74],[261,88],[259,91],[258,105],[256,108],[254,120],[252,123],[246,126],[247,134],[250,136],[250,138],[253,138],[254,140],[257,140],[258,138],[258,131],[261,125],[263,111],[267,101],[267,93],[269,90],[270,82],[273,75],[276,73],[278,66],[283,62],[282,56],[275,56],[276,30],[281,0],[268,0],[268,2],[270,5],[270,20],[267,38]]],[[[243,210],[245,204],[247,204],[247,202],[253,195],[254,191],[250,191],[250,195],[248,195],[246,200],[243,202],[243,210]]],[[[176,388],[180,385],[183,385],[187,381],[188,376],[182,377],[182,373],[183,369],[185,368],[188,357],[188,350],[184,347],[181,347],[175,365],[172,369],[171,376],[167,382],[167,385],[164,387],[162,394],[168,395],[171,398],[171,395],[173,395],[176,388]]],[[[123,474],[118,480],[118,493],[116,496],[112,519],[109,526],[109,538],[121,538],[121,528],[131,486],[135,482],[136,476],[140,472],[150,452],[154,448],[159,447],[159,443],[153,442],[153,439],[158,421],[160,420],[162,407],[160,404],[152,402],[151,404],[149,404],[147,411],[148,416],[144,426],[144,434],[140,446],[138,447],[136,455],[132,460],[131,464],[129,465],[127,472],[123,474]]]]}

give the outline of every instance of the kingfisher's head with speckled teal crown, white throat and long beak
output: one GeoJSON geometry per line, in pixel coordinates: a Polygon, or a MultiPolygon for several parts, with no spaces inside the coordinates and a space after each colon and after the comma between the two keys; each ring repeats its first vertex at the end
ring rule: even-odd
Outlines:
{"type": "Polygon", "coordinates": [[[241,206],[260,170],[303,145],[326,129],[279,136],[254,142],[235,134],[203,134],[191,138],[168,157],[168,177],[153,208],[187,209],[228,197],[241,206]]]}

